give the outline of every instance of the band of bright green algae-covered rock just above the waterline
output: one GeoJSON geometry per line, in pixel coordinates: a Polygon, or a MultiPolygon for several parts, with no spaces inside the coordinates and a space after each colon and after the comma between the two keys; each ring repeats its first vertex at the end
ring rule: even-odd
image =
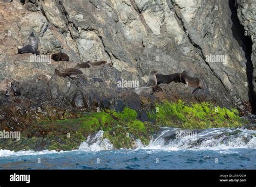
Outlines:
{"type": "Polygon", "coordinates": [[[214,106],[212,103],[185,104],[163,102],[156,104],[156,111],[149,111],[149,119],[140,121],[136,110],[125,107],[122,112],[105,110],[85,113],[80,118],[42,121],[31,124],[21,132],[20,141],[0,140],[0,149],[10,150],[73,150],[77,149],[87,136],[104,131],[104,138],[114,148],[134,148],[136,140],[145,145],[160,127],[214,128],[238,127],[247,124],[239,117],[236,109],[214,106]]]}

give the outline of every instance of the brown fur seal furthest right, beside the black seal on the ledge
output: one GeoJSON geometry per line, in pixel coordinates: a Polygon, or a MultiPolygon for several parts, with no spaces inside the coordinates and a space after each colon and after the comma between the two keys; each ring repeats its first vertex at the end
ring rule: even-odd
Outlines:
{"type": "Polygon", "coordinates": [[[190,87],[194,87],[195,89],[192,91],[194,93],[198,89],[204,89],[203,81],[198,77],[191,77],[187,74],[187,71],[182,71],[180,74],[180,81],[184,84],[188,84],[190,87]]]}

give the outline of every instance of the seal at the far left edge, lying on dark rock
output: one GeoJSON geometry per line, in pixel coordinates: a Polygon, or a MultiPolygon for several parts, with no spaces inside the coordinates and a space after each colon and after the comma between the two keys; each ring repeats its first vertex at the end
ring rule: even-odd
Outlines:
{"type": "Polygon", "coordinates": [[[17,85],[14,84],[15,81],[14,80],[10,80],[9,78],[5,78],[5,80],[3,80],[0,83],[0,92],[3,95],[6,96],[18,96],[21,93],[19,92],[17,85]]]}

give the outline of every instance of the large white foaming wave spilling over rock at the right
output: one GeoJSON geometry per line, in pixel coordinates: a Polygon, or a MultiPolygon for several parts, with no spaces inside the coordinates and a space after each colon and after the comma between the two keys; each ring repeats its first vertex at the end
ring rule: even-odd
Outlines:
{"type": "MultiPolygon", "coordinates": [[[[174,131],[174,130],[172,130],[174,131]]],[[[160,135],[151,140],[149,146],[143,149],[158,150],[224,150],[238,148],[256,148],[255,131],[242,130],[239,128],[214,128],[203,130],[196,137],[169,139],[171,131],[163,131],[160,135]],[[165,137],[165,138],[163,138],[165,137]],[[166,138],[167,137],[167,138],[166,138]]]]}

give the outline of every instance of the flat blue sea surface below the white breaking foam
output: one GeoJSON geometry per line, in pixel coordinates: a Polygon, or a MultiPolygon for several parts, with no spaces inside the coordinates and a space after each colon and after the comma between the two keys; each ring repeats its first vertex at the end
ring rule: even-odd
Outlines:
{"type": "Polygon", "coordinates": [[[247,148],[76,150],[1,157],[0,169],[256,169],[255,158],[256,149],[247,148]]]}

